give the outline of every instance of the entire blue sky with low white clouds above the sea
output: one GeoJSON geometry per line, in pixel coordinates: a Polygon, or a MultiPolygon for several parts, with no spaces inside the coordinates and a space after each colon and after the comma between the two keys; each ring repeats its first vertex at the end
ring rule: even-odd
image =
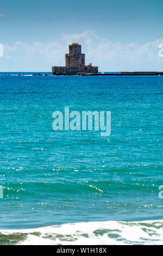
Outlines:
{"type": "Polygon", "coordinates": [[[0,72],[50,72],[72,42],[99,71],[163,71],[162,25],[163,0],[1,1],[0,72]]]}

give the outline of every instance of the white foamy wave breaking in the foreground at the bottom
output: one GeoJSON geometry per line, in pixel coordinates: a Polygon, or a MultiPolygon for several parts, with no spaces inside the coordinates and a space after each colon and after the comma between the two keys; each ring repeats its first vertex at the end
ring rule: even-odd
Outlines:
{"type": "Polygon", "coordinates": [[[0,230],[0,245],[163,245],[163,220],[80,222],[0,230]]]}

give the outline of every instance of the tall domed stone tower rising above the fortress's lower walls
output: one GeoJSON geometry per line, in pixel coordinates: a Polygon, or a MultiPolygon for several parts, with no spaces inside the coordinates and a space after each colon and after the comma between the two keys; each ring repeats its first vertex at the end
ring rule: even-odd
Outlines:
{"type": "Polygon", "coordinates": [[[69,53],[65,54],[65,66],[85,66],[85,54],[82,53],[82,45],[77,42],[69,45],[69,53]]]}

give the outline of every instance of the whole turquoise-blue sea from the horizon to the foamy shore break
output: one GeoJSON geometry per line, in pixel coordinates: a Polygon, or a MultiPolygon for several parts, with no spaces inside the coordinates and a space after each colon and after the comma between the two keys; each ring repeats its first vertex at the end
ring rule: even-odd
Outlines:
{"type": "Polygon", "coordinates": [[[0,245],[163,244],[163,77],[17,74],[0,73],[0,245]],[[67,106],[111,111],[111,135],[54,131],[67,106]]]}

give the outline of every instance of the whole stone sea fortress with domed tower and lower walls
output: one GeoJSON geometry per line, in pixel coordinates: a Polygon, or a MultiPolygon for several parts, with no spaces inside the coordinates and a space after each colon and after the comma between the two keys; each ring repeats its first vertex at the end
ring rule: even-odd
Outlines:
{"type": "Polygon", "coordinates": [[[65,54],[65,66],[52,66],[53,75],[98,74],[98,66],[85,65],[85,54],[82,45],[73,42],[69,45],[69,53],[65,54]]]}

